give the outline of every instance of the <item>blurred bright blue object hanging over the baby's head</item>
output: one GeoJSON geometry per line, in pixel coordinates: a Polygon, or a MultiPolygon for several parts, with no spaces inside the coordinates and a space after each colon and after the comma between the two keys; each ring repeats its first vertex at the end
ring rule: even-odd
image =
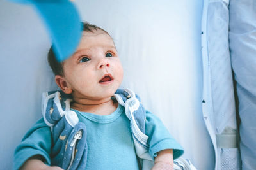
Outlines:
{"type": "Polygon", "coordinates": [[[52,39],[58,61],[63,61],[75,52],[79,44],[82,25],[74,4],[68,0],[10,0],[34,6],[52,39]]]}

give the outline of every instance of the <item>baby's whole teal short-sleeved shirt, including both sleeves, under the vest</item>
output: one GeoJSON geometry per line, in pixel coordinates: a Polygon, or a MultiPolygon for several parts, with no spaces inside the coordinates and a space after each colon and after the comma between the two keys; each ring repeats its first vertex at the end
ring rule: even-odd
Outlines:
{"type": "MultiPolygon", "coordinates": [[[[95,115],[73,110],[79,122],[87,129],[88,157],[86,169],[139,169],[134,149],[130,120],[120,104],[110,115],[95,115]]],[[[173,158],[182,155],[182,147],[170,136],[159,118],[146,112],[145,134],[151,157],[164,149],[173,149],[173,158]]],[[[15,150],[14,168],[19,169],[29,157],[39,154],[51,164],[52,136],[43,119],[40,119],[22,139],[15,150]]]]}

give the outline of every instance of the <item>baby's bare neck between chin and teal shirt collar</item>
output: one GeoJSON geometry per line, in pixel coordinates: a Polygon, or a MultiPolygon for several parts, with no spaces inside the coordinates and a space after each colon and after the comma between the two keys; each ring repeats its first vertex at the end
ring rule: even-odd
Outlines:
{"type": "Polygon", "coordinates": [[[95,103],[81,103],[74,101],[71,103],[71,108],[81,112],[93,113],[96,115],[110,115],[113,113],[118,106],[118,103],[113,101],[111,98],[104,101],[98,101],[95,103]]]}

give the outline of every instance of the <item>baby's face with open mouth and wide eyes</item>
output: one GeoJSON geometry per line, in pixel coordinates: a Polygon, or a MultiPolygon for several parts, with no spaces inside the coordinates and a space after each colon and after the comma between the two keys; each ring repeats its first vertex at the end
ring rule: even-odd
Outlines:
{"type": "Polygon", "coordinates": [[[83,32],[72,57],[63,63],[64,78],[73,97],[111,97],[123,78],[122,64],[111,37],[102,30],[83,32]]]}

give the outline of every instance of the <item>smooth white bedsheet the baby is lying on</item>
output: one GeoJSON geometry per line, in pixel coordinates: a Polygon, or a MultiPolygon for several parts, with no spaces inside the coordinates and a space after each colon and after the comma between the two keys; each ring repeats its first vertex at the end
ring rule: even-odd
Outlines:
{"type": "MultiPolygon", "coordinates": [[[[202,118],[202,1],[84,1],[83,20],[111,34],[124,66],[122,87],[138,93],[163,120],[198,169],[214,169],[202,118]]],[[[29,6],[0,0],[0,164],[12,168],[15,146],[40,118],[40,97],[54,90],[44,25],[29,6]],[[8,130],[7,130],[8,129],[8,130]],[[4,154],[3,154],[4,153],[4,154]]]]}

